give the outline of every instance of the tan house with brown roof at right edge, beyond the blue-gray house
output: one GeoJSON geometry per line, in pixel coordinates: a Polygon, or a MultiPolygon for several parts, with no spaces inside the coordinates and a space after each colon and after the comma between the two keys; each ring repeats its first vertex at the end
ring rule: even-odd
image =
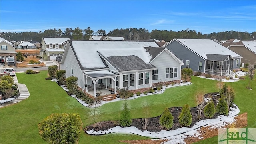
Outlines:
{"type": "Polygon", "coordinates": [[[256,64],[255,41],[224,42],[222,46],[242,56],[241,63],[256,64]]]}

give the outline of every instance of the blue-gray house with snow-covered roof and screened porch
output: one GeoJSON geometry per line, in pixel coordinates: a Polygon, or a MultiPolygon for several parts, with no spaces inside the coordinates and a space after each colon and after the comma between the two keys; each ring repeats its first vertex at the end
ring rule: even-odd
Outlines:
{"type": "Polygon", "coordinates": [[[234,76],[242,56],[209,39],[173,39],[164,45],[184,62],[182,68],[218,76],[234,76]]]}

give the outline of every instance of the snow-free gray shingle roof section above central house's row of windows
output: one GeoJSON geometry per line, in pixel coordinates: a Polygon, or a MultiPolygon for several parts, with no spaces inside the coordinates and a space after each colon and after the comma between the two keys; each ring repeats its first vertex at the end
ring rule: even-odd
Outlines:
{"type": "Polygon", "coordinates": [[[110,56],[106,59],[119,72],[156,68],[152,64],[146,64],[137,56],[110,56]]]}

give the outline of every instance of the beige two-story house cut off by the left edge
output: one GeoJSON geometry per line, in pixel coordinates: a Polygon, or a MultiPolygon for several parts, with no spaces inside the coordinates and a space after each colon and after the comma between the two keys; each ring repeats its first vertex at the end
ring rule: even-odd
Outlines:
{"type": "Polygon", "coordinates": [[[16,60],[15,47],[11,42],[0,37],[0,58],[4,58],[7,62],[8,58],[14,58],[16,60]]]}

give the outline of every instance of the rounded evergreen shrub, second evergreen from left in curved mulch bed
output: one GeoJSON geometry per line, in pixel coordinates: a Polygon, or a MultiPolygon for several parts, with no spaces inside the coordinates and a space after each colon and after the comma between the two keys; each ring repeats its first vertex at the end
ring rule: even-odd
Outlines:
{"type": "Polygon", "coordinates": [[[167,130],[172,128],[173,125],[173,116],[168,108],[164,110],[164,113],[159,118],[159,124],[166,128],[167,130]]]}

